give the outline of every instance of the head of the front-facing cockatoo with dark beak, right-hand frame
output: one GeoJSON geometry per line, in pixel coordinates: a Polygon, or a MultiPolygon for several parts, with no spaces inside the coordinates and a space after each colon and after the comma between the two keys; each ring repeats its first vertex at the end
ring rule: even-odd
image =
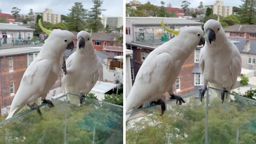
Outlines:
{"type": "Polygon", "coordinates": [[[225,31],[217,20],[208,20],[204,23],[207,44],[221,43],[225,39],[225,31]]]}

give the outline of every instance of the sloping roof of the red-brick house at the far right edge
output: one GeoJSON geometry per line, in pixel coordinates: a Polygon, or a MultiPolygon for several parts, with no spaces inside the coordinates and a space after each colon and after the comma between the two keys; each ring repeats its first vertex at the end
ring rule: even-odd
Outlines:
{"type": "Polygon", "coordinates": [[[256,25],[234,25],[224,28],[228,32],[256,33],[256,25]]]}

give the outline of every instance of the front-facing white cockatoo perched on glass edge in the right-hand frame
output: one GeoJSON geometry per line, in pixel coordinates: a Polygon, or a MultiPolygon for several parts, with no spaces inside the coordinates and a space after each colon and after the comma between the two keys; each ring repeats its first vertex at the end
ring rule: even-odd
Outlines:
{"type": "Polygon", "coordinates": [[[221,90],[223,102],[225,92],[230,92],[241,73],[242,60],[236,45],[229,41],[219,21],[208,20],[204,24],[206,44],[199,54],[199,66],[203,73],[201,101],[207,85],[221,90]]]}

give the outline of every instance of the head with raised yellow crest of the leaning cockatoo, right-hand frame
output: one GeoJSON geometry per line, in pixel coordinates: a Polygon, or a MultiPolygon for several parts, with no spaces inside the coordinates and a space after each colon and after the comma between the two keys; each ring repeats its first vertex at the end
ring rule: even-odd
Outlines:
{"type": "Polygon", "coordinates": [[[182,41],[185,42],[186,39],[189,45],[196,46],[202,45],[204,41],[204,31],[199,27],[182,27],[179,30],[172,30],[164,26],[164,22],[161,22],[162,27],[169,33],[181,37],[182,41]]]}

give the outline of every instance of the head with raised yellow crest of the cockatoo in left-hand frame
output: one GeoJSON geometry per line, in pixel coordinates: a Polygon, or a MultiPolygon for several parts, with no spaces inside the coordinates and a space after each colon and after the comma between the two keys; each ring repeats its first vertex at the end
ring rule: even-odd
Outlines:
{"type": "Polygon", "coordinates": [[[42,26],[41,19],[38,21],[39,27],[47,34],[49,37],[44,41],[45,47],[51,49],[55,52],[64,52],[67,50],[74,49],[74,39],[75,36],[68,30],[53,29],[48,30],[42,26]],[[49,46],[50,45],[50,46],[49,46]],[[51,46],[52,45],[52,46],[51,46]],[[54,47],[54,49],[53,49],[54,47]]]}

